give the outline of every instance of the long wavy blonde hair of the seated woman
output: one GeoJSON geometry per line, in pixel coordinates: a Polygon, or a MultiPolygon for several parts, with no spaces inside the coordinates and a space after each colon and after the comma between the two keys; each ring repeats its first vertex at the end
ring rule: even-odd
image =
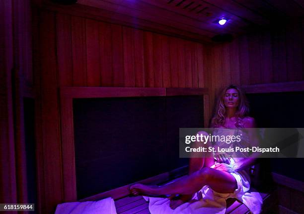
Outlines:
{"type": "Polygon", "coordinates": [[[227,112],[226,112],[226,107],[224,105],[224,97],[227,90],[229,89],[235,89],[238,92],[238,97],[239,97],[238,107],[235,112],[235,117],[236,117],[235,126],[237,128],[244,127],[243,118],[248,116],[249,114],[248,101],[246,99],[244,92],[240,89],[240,87],[233,84],[226,87],[221,93],[220,97],[218,98],[216,111],[211,122],[211,127],[220,127],[220,126],[224,126],[225,124],[225,118],[227,116],[227,112]]]}

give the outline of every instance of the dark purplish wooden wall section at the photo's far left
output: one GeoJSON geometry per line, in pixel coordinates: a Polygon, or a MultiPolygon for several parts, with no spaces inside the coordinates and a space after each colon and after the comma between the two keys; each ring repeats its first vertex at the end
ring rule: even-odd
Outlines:
{"type": "Polygon", "coordinates": [[[23,97],[33,96],[30,17],[29,0],[0,2],[1,203],[28,203],[23,97]]]}

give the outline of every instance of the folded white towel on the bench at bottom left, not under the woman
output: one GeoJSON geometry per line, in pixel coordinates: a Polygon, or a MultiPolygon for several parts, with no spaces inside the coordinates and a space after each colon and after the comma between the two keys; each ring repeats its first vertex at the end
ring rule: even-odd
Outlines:
{"type": "Polygon", "coordinates": [[[70,202],[57,205],[55,214],[117,214],[112,198],[96,202],[70,202]]]}

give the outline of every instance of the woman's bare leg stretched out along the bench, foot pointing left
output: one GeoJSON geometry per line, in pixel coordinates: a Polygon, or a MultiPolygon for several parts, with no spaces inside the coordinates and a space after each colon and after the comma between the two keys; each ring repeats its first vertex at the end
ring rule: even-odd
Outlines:
{"type": "Polygon", "coordinates": [[[236,189],[236,181],[230,173],[204,167],[188,177],[165,186],[151,187],[143,184],[134,184],[130,187],[130,191],[134,195],[190,195],[199,191],[205,185],[219,193],[233,193],[236,189]]]}

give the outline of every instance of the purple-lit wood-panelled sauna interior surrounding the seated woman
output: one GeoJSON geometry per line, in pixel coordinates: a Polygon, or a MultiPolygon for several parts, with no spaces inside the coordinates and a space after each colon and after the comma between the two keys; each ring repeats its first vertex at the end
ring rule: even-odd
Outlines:
{"type": "MultiPolygon", "coordinates": [[[[0,53],[0,204],[34,204],[8,214],[182,213],[130,185],[191,176],[179,128],[210,127],[230,84],[257,127],[304,127],[303,0],[1,0],[0,53]]],[[[304,213],[303,158],[250,170],[256,214],[304,213]]]]}

